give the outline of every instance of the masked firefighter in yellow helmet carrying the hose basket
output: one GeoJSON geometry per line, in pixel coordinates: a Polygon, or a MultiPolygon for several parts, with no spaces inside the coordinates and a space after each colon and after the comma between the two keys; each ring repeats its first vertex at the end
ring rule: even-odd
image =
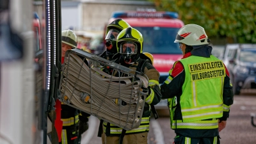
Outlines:
{"type": "Polygon", "coordinates": [[[102,143],[146,144],[151,115],[150,105],[157,104],[162,97],[159,87],[159,72],[152,66],[151,61],[142,60],[140,58],[140,54],[142,54],[143,51],[143,36],[140,31],[131,27],[122,30],[117,36],[116,48],[118,53],[115,54],[113,58],[117,57],[120,65],[143,72],[143,74],[148,77],[149,86],[143,90],[143,92],[148,93],[148,95],[145,99],[145,107],[140,127],[132,129],[131,131],[125,131],[120,127],[116,127],[104,121],[102,143]]]}

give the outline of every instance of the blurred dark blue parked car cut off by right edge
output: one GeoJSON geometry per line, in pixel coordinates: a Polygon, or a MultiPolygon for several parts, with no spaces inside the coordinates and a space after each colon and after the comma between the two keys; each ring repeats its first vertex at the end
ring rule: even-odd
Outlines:
{"type": "Polygon", "coordinates": [[[256,44],[240,44],[228,69],[236,95],[241,89],[256,88],[256,44]]]}

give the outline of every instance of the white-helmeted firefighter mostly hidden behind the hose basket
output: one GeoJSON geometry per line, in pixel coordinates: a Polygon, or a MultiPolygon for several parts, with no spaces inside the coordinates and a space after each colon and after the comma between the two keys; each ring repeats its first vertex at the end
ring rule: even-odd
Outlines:
{"type": "MultiPolygon", "coordinates": [[[[77,46],[77,36],[74,31],[68,29],[61,32],[61,63],[64,62],[65,52],[75,49],[77,46]]],[[[88,63],[87,63],[88,65],[88,63]]],[[[58,101],[58,100],[57,100],[58,101]]],[[[57,103],[57,102],[56,102],[57,103]]],[[[58,108],[56,108],[58,109],[58,108]]],[[[58,118],[56,110],[56,117],[58,118]]],[[[62,131],[60,144],[77,144],[81,141],[81,134],[88,129],[87,113],[80,112],[66,104],[61,104],[62,131]]],[[[58,131],[58,130],[57,130],[58,131]]],[[[60,130],[59,130],[60,131],[60,130]]],[[[58,134],[59,135],[59,134],[58,134]]]]}

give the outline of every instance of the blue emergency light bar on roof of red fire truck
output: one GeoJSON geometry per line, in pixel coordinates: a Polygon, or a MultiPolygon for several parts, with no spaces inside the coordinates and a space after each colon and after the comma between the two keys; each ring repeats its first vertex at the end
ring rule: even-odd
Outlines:
{"type": "Polygon", "coordinates": [[[165,18],[177,19],[179,17],[176,12],[113,12],[113,18],[165,18]]]}

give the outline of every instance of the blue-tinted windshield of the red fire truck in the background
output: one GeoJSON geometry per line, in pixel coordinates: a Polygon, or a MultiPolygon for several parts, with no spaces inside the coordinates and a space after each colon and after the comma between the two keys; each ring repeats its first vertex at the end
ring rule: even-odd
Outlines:
{"type": "Polygon", "coordinates": [[[151,54],[182,54],[174,43],[179,28],[133,27],[143,35],[143,52],[151,54]]]}

